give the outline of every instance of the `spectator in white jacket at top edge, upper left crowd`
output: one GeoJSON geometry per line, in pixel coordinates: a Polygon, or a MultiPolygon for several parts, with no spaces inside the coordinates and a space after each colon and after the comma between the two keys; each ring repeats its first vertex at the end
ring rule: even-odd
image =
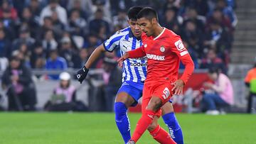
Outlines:
{"type": "Polygon", "coordinates": [[[45,18],[46,16],[52,16],[54,11],[58,13],[58,19],[61,21],[61,23],[65,25],[68,24],[67,11],[58,4],[58,0],[50,0],[48,6],[43,8],[43,10],[41,11],[41,25],[43,25],[43,18],[45,18]]]}

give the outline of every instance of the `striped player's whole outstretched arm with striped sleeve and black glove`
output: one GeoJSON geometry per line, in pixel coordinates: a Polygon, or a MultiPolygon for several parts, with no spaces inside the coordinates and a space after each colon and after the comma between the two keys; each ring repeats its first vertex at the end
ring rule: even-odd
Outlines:
{"type": "Polygon", "coordinates": [[[119,40],[122,38],[122,33],[114,33],[109,39],[107,39],[102,45],[98,46],[90,55],[89,59],[85,63],[85,65],[77,72],[78,81],[82,84],[82,81],[87,76],[89,69],[93,62],[97,60],[100,55],[105,52],[112,52],[115,48],[119,46],[119,40]]]}

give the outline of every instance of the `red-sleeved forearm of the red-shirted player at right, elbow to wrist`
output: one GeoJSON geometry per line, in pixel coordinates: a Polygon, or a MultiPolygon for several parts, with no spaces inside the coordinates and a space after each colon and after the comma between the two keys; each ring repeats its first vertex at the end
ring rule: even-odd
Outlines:
{"type": "Polygon", "coordinates": [[[181,80],[183,80],[184,84],[186,84],[186,82],[188,82],[188,79],[191,77],[193,73],[195,65],[190,56],[186,59],[181,60],[181,62],[183,63],[183,65],[185,65],[185,70],[181,76],[181,80]]]}

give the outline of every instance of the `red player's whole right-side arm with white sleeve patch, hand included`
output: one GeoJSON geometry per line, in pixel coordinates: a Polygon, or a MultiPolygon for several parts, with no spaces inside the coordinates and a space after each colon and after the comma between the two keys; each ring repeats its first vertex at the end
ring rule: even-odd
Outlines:
{"type": "Polygon", "coordinates": [[[181,94],[183,92],[183,86],[188,82],[189,77],[191,77],[191,74],[194,70],[194,64],[191,56],[188,53],[188,50],[184,47],[182,40],[179,36],[174,38],[174,42],[171,46],[171,51],[175,52],[176,55],[180,58],[183,65],[185,65],[184,72],[180,79],[178,79],[176,82],[174,82],[174,88],[171,89],[174,91],[174,94],[181,94]]]}

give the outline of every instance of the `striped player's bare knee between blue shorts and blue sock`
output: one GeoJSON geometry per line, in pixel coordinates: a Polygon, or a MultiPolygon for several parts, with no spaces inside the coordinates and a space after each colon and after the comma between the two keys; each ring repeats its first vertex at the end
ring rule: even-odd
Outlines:
{"type": "Polygon", "coordinates": [[[132,104],[134,104],[135,101],[133,97],[130,96],[127,92],[119,92],[117,93],[115,102],[122,102],[128,108],[129,106],[132,106],[132,104]]]}

